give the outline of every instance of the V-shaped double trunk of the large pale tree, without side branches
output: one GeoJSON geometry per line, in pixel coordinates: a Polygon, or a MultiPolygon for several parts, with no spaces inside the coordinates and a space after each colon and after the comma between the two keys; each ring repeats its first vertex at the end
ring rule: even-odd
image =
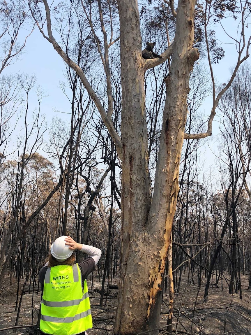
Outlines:
{"type": "MultiPolygon", "coordinates": [[[[122,81],[122,268],[114,334],[159,327],[162,278],[175,213],[187,115],[195,0],[180,0],[174,53],[166,78],[155,190],[150,207],[144,62],[136,0],[119,0],[122,81]],[[148,215],[149,214],[149,215],[148,215]]],[[[157,333],[153,331],[152,333],[157,333]]]]}

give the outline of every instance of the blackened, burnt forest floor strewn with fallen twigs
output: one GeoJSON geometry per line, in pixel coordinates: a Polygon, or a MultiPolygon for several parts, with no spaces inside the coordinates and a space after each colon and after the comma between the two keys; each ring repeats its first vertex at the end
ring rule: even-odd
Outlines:
{"type": "MultiPolygon", "coordinates": [[[[229,275],[226,274],[228,278],[229,275]]],[[[113,284],[117,282],[113,279],[113,284]]],[[[100,289],[102,278],[93,276],[93,282],[88,283],[90,291],[90,301],[93,316],[93,329],[88,331],[88,335],[111,335],[116,311],[117,290],[112,289],[107,297],[106,306],[99,307],[100,294],[94,292],[94,289],[100,289]]],[[[188,285],[187,275],[182,278],[182,285],[178,296],[175,295],[173,334],[177,326],[176,334],[191,335],[251,335],[251,291],[247,290],[248,276],[242,276],[243,299],[240,299],[239,293],[230,295],[228,285],[224,280],[223,291],[221,286],[216,288],[211,286],[208,301],[203,303],[203,293],[205,282],[203,281],[201,289],[188,285]],[[197,297],[197,299],[196,299],[197,297]],[[196,302],[196,306],[195,306],[196,302]],[[195,306],[195,308],[194,308],[195,306]],[[191,329],[192,325],[192,329],[191,329]],[[224,330],[225,325],[225,330],[224,330]]],[[[9,278],[6,278],[5,287],[2,289],[0,297],[0,330],[15,325],[16,315],[16,284],[9,286],[9,278]]],[[[22,284],[20,285],[22,287],[22,284]]],[[[25,290],[28,289],[25,288],[25,290]]],[[[20,298],[20,296],[19,296],[20,298]]],[[[105,302],[104,297],[104,302],[105,302]]],[[[163,295],[162,312],[160,327],[165,327],[168,316],[168,294],[163,295]],[[167,305],[166,305],[167,304],[167,305]]],[[[40,293],[26,292],[22,298],[21,310],[18,325],[30,325],[36,323],[39,311],[40,293]],[[32,313],[33,301],[33,313],[32,313]]],[[[29,334],[31,328],[18,328],[16,335],[29,334]]],[[[165,333],[160,331],[160,333],[165,333]]],[[[13,334],[13,329],[0,331],[0,335],[13,334]]]]}

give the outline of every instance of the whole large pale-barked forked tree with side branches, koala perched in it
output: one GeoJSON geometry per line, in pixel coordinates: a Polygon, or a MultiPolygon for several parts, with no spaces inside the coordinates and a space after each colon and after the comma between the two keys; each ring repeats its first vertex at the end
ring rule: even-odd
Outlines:
{"type": "MultiPolygon", "coordinates": [[[[151,2],[151,1],[149,1],[151,2]]],[[[158,3],[158,2],[157,2],[158,3]]],[[[204,133],[185,134],[187,117],[187,94],[189,78],[194,62],[199,58],[197,48],[194,48],[194,12],[195,1],[179,0],[177,8],[173,1],[166,1],[176,21],[173,43],[161,54],[161,59],[145,60],[142,58],[142,38],[140,31],[140,13],[137,0],[115,1],[71,1],[54,7],[54,13],[61,6],[68,6],[68,16],[73,19],[73,13],[86,15],[90,36],[96,43],[100,55],[100,65],[105,76],[105,98],[94,90],[95,81],[89,72],[84,72],[73,61],[66,45],[64,36],[62,47],[57,42],[52,31],[52,10],[47,0],[43,0],[44,8],[39,2],[30,3],[33,19],[43,34],[62,59],[78,74],[87,93],[91,96],[103,123],[113,139],[119,159],[122,162],[122,192],[121,192],[121,225],[122,225],[122,255],[119,281],[118,305],[115,319],[114,334],[136,334],[148,329],[155,334],[159,328],[161,309],[162,280],[166,268],[168,249],[179,191],[179,164],[183,139],[205,138],[212,134],[212,121],[219,100],[231,86],[240,64],[249,56],[250,39],[246,45],[244,28],[248,3],[241,7],[242,32],[238,44],[238,60],[228,83],[216,95],[212,61],[222,58],[222,49],[217,48],[214,34],[207,33],[210,19],[219,21],[225,11],[235,13],[236,6],[224,1],[206,2],[200,4],[201,20],[204,20],[205,46],[210,62],[213,81],[213,108],[208,119],[208,129],[204,133]],[[82,7],[81,7],[82,5],[82,7]],[[45,10],[47,32],[43,24],[45,10]],[[116,22],[117,11],[120,27],[120,67],[121,67],[121,137],[113,124],[113,97],[111,73],[109,64],[109,49],[118,40],[113,39],[112,20],[116,22]],[[36,13],[39,12],[39,15],[36,13]],[[99,17],[100,30],[96,18],[99,17]],[[115,18],[114,18],[115,17],[115,18]],[[106,25],[109,24],[109,27],[106,25]],[[102,41],[100,40],[102,39],[102,41]],[[243,56],[244,53],[244,56],[243,56]],[[216,54],[216,56],[215,56],[216,54]],[[151,179],[149,174],[148,129],[145,111],[145,72],[165,62],[172,56],[168,76],[164,79],[166,85],[165,106],[159,142],[158,159],[154,179],[154,190],[151,196],[151,179]],[[214,56],[214,57],[212,57],[214,56]],[[89,77],[89,80],[87,79],[89,77]]],[[[159,3],[158,3],[159,5],[159,3]]],[[[64,8],[65,10],[65,8],[64,8]]],[[[167,10],[167,6],[166,6],[167,10]]],[[[199,14],[198,14],[199,15],[199,14]]],[[[57,15],[56,15],[57,16],[57,15]]],[[[57,22],[57,17],[55,18],[57,22]]],[[[58,17],[62,25],[63,18],[58,17]]],[[[65,32],[72,31],[73,23],[65,26],[65,32]]],[[[67,34],[66,34],[67,35],[67,34]]],[[[81,41],[80,41],[81,42],[81,41]]],[[[85,45],[83,41],[83,46],[85,45]]],[[[110,49],[111,50],[111,49],[110,49]]],[[[96,58],[95,58],[96,61],[96,58]]]]}

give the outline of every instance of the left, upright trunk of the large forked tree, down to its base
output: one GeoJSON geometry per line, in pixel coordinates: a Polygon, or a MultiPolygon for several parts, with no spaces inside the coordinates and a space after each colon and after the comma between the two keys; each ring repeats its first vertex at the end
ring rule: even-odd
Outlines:
{"type": "Polygon", "coordinates": [[[144,64],[136,0],[118,1],[122,83],[122,259],[114,333],[146,327],[148,268],[146,235],[150,209],[144,64]]]}

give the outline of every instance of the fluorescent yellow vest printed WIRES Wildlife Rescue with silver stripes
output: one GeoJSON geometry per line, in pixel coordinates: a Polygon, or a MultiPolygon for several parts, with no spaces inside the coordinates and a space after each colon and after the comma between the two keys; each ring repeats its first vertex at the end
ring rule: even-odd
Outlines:
{"type": "Polygon", "coordinates": [[[47,269],[41,300],[40,330],[50,335],[75,335],[92,328],[86,280],[78,264],[47,269]]]}

